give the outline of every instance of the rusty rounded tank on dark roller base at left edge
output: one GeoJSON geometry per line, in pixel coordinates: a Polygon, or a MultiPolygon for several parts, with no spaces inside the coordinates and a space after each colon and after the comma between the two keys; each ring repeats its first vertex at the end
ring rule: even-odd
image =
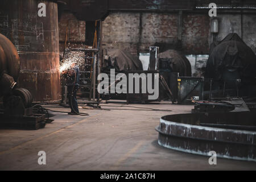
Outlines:
{"type": "Polygon", "coordinates": [[[33,114],[32,95],[24,88],[18,88],[20,71],[19,55],[5,36],[0,34],[0,127],[39,129],[46,125],[44,114],[33,114]]]}

